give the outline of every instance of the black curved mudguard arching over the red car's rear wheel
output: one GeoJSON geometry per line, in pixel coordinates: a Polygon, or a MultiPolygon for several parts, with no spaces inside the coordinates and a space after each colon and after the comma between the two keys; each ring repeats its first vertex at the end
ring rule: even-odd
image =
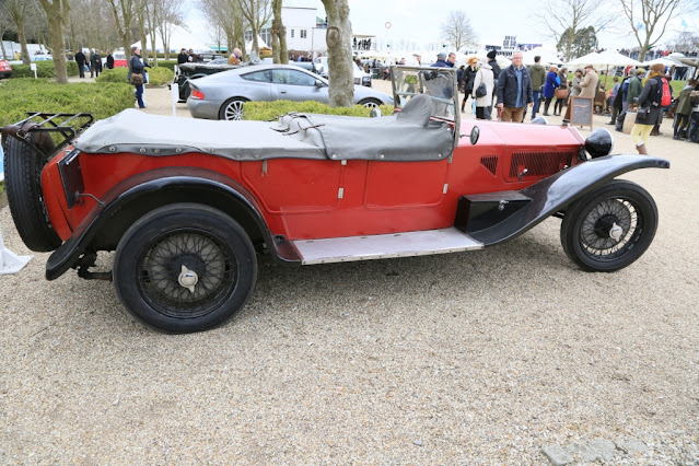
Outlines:
{"type": "MultiPolygon", "coordinates": [[[[125,214],[128,209],[138,206],[139,214],[148,211],[149,208],[158,208],[162,203],[158,201],[149,205],[154,198],[163,199],[168,197],[170,202],[196,201],[184,197],[184,199],[172,198],[167,194],[179,193],[189,195],[193,191],[206,193],[206,199],[217,199],[218,202],[209,201],[208,205],[231,213],[233,205],[244,210],[247,223],[254,223],[264,241],[269,245],[275,245],[267,224],[259,213],[259,208],[253,196],[247,193],[238,183],[223,177],[222,175],[198,168],[188,168],[188,174],[175,173],[174,171],[153,171],[137,175],[124,182],[123,186],[117,186],[105,195],[101,200],[102,205],[95,208],[78,225],[73,234],[56,249],[46,263],[46,278],[55,280],[63,275],[69,268],[77,267],[80,257],[86,252],[101,251],[106,247],[95,247],[93,242],[98,235],[104,235],[116,230],[119,233],[114,241],[118,241],[131,222],[135,215],[125,214]],[[156,173],[153,173],[156,172],[156,173]],[[199,173],[201,172],[201,173],[199,173]]],[[[241,219],[237,219],[241,222],[241,219]]],[[[244,225],[245,226],[245,225],[244,225]]],[[[271,247],[273,251],[275,248],[271,247]]]]}

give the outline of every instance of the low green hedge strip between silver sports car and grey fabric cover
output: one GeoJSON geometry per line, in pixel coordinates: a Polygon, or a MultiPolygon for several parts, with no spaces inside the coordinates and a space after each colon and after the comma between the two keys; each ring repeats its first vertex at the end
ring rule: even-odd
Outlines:
{"type": "MultiPolygon", "coordinates": [[[[380,108],[383,115],[392,115],[394,109],[393,105],[382,105],[380,108]]],[[[244,119],[271,120],[279,115],[286,115],[290,112],[368,117],[371,108],[366,108],[362,105],[354,105],[351,108],[330,107],[327,104],[313,101],[246,102],[244,106],[244,119]]]]}

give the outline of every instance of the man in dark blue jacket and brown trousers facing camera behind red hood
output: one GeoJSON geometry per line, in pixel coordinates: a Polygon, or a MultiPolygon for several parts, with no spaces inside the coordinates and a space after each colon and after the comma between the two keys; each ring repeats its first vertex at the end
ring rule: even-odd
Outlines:
{"type": "Polygon", "coordinates": [[[498,108],[503,121],[522,123],[524,107],[534,105],[532,78],[522,66],[522,53],[512,54],[512,65],[500,72],[498,78],[498,108]]]}

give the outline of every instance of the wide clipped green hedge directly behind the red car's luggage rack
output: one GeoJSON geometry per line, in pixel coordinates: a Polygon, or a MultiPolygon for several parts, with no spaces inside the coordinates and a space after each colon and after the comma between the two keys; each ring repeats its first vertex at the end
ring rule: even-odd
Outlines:
{"type": "Polygon", "coordinates": [[[56,84],[48,79],[12,79],[2,82],[0,128],[26,118],[26,112],[92,113],[95,120],[133,107],[128,83],[56,84]]]}

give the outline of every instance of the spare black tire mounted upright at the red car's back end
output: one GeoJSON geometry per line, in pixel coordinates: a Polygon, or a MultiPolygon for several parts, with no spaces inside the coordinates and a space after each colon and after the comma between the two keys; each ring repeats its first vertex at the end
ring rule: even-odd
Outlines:
{"type": "MultiPolygon", "coordinates": [[[[30,133],[32,142],[50,155],[56,145],[48,133],[30,133]]],[[[4,145],[4,186],[14,225],[32,251],[46,253],[61,245],[48,213],[42,191],[42,170],[48,162],[35,149],[8,137],[4,145]]]]}

